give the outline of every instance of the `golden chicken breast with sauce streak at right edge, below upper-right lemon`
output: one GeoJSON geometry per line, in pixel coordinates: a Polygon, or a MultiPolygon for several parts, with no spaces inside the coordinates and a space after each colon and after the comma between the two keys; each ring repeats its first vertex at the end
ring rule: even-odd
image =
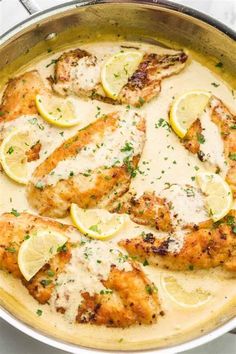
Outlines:
{"type": "Polygon", "coordinates": [[[225,104],[211,97],[205,112],[184,137],[184,146],[215,172],[223,172],[236,197],[236,116],[225,104]]]}

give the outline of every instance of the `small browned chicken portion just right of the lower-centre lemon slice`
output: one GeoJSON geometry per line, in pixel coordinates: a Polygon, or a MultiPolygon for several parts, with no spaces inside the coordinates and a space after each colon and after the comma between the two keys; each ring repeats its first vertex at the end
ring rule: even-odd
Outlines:
{"type": "Polygon", "coordinates": [[[110,211],[129,214],[131,220],[140,225],[154,227],[160,231],[171,231],[171,215],[168,203],[155,193],[146,192],[136,198],[131,192],[118,199],[110,211]]]}

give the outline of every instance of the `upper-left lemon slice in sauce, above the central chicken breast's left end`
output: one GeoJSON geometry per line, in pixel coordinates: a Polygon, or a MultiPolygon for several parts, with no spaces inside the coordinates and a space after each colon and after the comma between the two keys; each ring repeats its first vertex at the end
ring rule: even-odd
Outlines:
{"type": "Polygon", "coordinates": [[[69,99],[37,95],[35,102],[39,114],[50,124],[68,128],[80,123],[74,105],[69,99]]]}

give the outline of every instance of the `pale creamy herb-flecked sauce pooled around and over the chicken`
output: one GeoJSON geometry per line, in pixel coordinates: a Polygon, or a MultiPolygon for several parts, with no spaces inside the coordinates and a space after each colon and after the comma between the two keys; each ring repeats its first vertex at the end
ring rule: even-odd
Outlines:
{"type": "MultiPolygon", "coordinates": [[[[101,60],[100,58],[107,58],[110,54],[123,50],[121,45],[138,47],[144,52],[169,52],[169,50],[155,46],[127,42],[96,42],[79,44],[78,47],[97,55],[99,60],[101,60]]],[[[28,65],[27,70],[32,68],[38,69],[45,80],[45,84],[48,85],[46,78],[53,74],[53,65],[48,64],[50,64],[51,60],[57,59],[59,54],[52,53],[50,58],[42,58],[38,63],[28,65]]],[[[91,69],[89,76],[83,78],[81,88],[88,89],[93,87],[93,80],[94,83],[98,81],[98,74],[97,72],[93,73],[91,69]]],[[[170,243],[173,252],[181,249],[183,244],[184,233],[178,230],[182,224],[188,222],[198,223],[208,218],[204,196],[199,191],[195,175],[196,172],[206,171],[211,167],[209,164],[206,165],[201,162],[197,156],[190,154],[183,147],[178,137],[172,132],[168,121],[168,111],[174,98],[186,91],[195,89],[203,89],[211,92],[222,99],[232,111],[236,110],[235,97],[227,84],[195,60],[191,60],[178,75],[165,79],[162,82],[161,93],[157,98],[144,105],[141,109],[135,110],[138,114],[146,117],[147,132],[145,147],[139,163],[140,172],[132,179],[131,188],[138,196],[145,191],[155,191],[157,195],[165,197],[171,203],[172,215],[175,216],[177,226],[176,232],[171,236],[174,240],[170,243]]],[[[78,128],[87,126],[103,114],[116,112],[121,109],[120,107],[95,100],[89,101],[77,97],[72,97],[72,100],[76,107],[76,112],[81,118],[81,123],[78,127],[70,129],[56,128],[44,122],[37,115],[20,117],[4,126],[2,125],[1,131],[3,135],[12,129],[12,127],[21,127],[23,124],[24,127],[29,127],[32,132],[33,141],[40,140],[42,144],[40,160],[32,163],[32,171],[36,165],[41,163],[63,141],[73,136],[78,128]],[[34,119],[35,124],[31,123],[32,119],[34,119]],[[41,129],[40,126],[44,127],[44,129],[41,129]]],[[[131,108],[123,107],[122,109],[130,111],[131,113],[129,114],[132,116],[133,111],[131,111],[131,108]]],[[[211,156],[211,159],[215,159],[212,160],[212,164],[217,164],[223,169],[221,140],[215,128],[213,129],[213,123],[207,119],[206,121],[205,119],[203,120],[203,134],[207,144],[202,148],[205,149],[206,154],[211,156]],[[216,141],[219,144],[217,144],[217,153],[215,154],[216,141]]],[[[109,139],[111,139],[111,136],[107,139],[107,143],[110,143],[109,139]]],[[[125,139],[126,137],[123,143],[125,143],[125,139]]],[[[129,136],[128,140],[133,144],[137,142],[137,140],[132,141],[131,136],[129,136]]],[[[113,142],[112,138],[111,144],[113,144],[114,151],[110,155],[110,161],[113,161],[115,149],[120,149],[121,140],[114,139],[113,142]]],[[[139,149],[138,143],[136,149],[137,151],[139,149]]],[[[78,161],[61,162],[56,168],[56,175],[67,174],[68,170],[72,167],[71,164],[74,170],[75,162],[76,166],[77,164],[80,165],[76,167],[79,168],[79,171],[85,169],[87,158],[88,161],[92,161],[91,163],[95,164],[99,159],[106,159],[105,149],[102,156],[92,155],[92,150],[93,145],[91,144],[88,152],[89,156],[87,156],[87,153],[83,153],[82,155],[78,155],[78,161]]],[[[94,165],[92,167],[94,168],[94,165]]],[[[58,176],[51,176],[50,181],[47,181],[47,183],[55,183],[57,178],[58,176]]],[[[1,213],[11,211],[12,208],[19,212],[23,210],[35,212],[35,210],[31,210],[27,202],[25,187],[16,185],[3,172],[1,172],[0,178],[0,191],[1,213]]],[[[63,221],[71,223],[69,218],[63,221]]],[[[93,243],[94,249],[90,250],[91,257],[89,257],[89,260],[84,259],[83,252],[85,251],[84,247],[88,247],[88,245],[74,249],[73,257],[67,267],[66,273],[59,276],[60,286],[56,287],[50,305],[39,305],[28,294],[20,281],[13,279],[4,272],[0,272],[0,285],[4,290],[4,293],[1,291],[1,302],[13,313],[17,312],[17,316],[24,319],[24,321],[47,333],[74,343],[110,349],[137,349],[177,343],[185,338],[203,333],[208,328],[224,322],[227,316],[232,317],[233,314],[235,315],[236,279],[232,274],[221,269],[170,272],[146,265],[142,266],[143,270],[156,284],[161,308],[164,311],[164,316],[159,316],[157,324],[151,326],[132,326],[126,329],[112,329],[104,326],[78,325],[73,323],[73,314],[75,313],[76,306],[81,301],[79,291],[86,289],[94,293],[104,290],[104,286],[100,280],[106,278],[109,271],[107,263],[104,260],[116,262],[113,259],[114,256],[108,252],[108,249],[117,247],[117,242],[121,238],[135,237],[140,235],[142,231],[151,231],[160,238],[168,236],[127,220],[122,230],[112,240],[104,242],[102,246],[100,243],[93,243]],[[96,256],[93,256],[94,253],[96,256]],[[97,263],[97,259],[102,262],[97,263]],[[200,307],[189,309],[178,306],[168,297],[162,286],[161,279],[164,275],[174,275],[179,284],[187,292],[201,288],[209,292],[211,297],[205,305],[200,307]],[[71,279],[73,281],[70,281],[71,279]],[[17,302],[14,298],[16,293],[17,302]],[[70,301],[67,301],[66,304],[68,306],[67,314],[61,315],[56,313],[55,306],[65,305],[65,296],[68,293],[70,301]],[[60,300],[57,299],[57,294],[61,295],[60,300]],[[42,311],[40,317],[37,315],[38,309],[42,311]]],[[[72,235],[72,238],[76,240],[76,233],[72,235]]],[[[118,263],[116,263],[117,266],[124,267],[123,263],[120,265],[118,263]]],[[[126,263],[125,267],[129,267],[129,264],[126,263]]]]}

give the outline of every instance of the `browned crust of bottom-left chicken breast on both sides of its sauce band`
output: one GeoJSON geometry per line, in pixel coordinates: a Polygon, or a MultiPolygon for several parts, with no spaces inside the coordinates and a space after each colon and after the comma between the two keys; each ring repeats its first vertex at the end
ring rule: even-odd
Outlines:
{"type": "MultiPolygon", "coordinates": [[[[71,247],[75,245],[68,241],[66,247],[63,247],[30,281],[26,281],[18,267],[18,250],[25,236],[42,229],[55,230],[68,237],[72,230],[75,232],[72,226],[28,213],[19,216],[3,214],[0,217],[0,269],[20,279],[29,293],[39,303],[45,304],[50,302],[57,277],[66,270],[72,256],[71,247]]],[[[84,300],[78,313],[75,313],[77,322],[114,327],[156,322],[160,312],[156,288],[138,265],[130,263],[132,265],[130,271],[119,270],[111,265],[108,279],[102,283],[109,291],[112,289],[112,294],[82,294],[84,300]]],[[[66,311],[64,308],[57,310],[61,313],[66,311]]]]}

